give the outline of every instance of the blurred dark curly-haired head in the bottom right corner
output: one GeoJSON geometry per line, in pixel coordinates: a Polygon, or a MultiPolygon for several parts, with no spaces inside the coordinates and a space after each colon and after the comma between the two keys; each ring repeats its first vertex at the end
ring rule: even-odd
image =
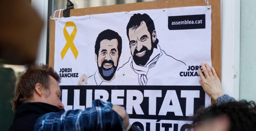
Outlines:
{"type": "Polygon", "coordinates": [[[200,109],[194,116],[194,131],[256,131],[253,101],[233,101],[200,109]]]}

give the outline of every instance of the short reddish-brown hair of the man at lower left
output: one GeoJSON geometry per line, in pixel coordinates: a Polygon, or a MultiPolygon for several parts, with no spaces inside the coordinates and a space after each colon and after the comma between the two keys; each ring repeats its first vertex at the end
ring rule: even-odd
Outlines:
{"type": "Polygon", "coordinates": [[[49,76],[52,76],[57,82],[61,81],[57,72],[48,65],[27,65],[26,71],[19,77],[15,87],[12,110],[15,111],[18,106],[27,102],[33,96],[37,83],[42,84],[44,89],[49,90],[49,76]]]}

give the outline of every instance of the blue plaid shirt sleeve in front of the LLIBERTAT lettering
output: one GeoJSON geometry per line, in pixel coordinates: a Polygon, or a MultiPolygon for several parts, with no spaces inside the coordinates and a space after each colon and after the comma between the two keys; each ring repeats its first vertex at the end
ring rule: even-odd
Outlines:
{"type": "Polygon", "coordinates": [[[34,131],[124,131],[123,119],[110,102],[94,100],[92,107],[47,113],[37,119],[34,131]]]}

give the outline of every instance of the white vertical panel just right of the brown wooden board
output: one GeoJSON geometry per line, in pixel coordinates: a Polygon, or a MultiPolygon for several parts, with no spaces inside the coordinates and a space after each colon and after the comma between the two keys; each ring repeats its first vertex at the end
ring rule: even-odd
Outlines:
{"type": "Polygon", "coordinates": [[[239,100],[240,0],[221,0],[221,83],[239,100]]]}

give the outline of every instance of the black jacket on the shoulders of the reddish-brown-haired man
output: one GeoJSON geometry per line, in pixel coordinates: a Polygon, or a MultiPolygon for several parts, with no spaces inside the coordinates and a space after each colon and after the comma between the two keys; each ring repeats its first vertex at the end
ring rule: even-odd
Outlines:
{"type": "Polygon", "coordinates": [[[33,131],[34,124],[40,116],[60,111],[64,111],[64,109],[42,102],[21,104],[16,110],[14,123],[10,126],[9,131],[33,131]]]}

